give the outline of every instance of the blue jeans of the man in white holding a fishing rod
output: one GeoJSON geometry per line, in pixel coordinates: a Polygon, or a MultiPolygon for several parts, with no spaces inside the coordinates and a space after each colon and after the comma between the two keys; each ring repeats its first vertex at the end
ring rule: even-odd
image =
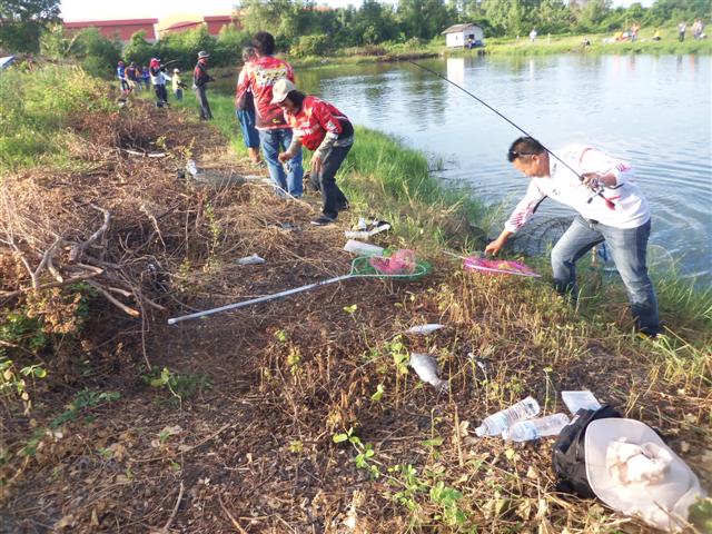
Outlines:
{"type": "Polygon", "coordinates": [[[577,215],[552,249],[556,289],[575,296],[576,261],[594,245],[605,241],[627,290],[637,327],[646,334],[657,334],[657,299],[645,265],[649,237],[650,220],[637,228],[614,228],[577,215]]]}

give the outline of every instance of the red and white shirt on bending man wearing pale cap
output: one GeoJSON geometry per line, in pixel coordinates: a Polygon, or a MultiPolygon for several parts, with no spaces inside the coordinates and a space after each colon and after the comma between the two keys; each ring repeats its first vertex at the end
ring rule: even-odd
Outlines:
{"type": "Polygon", "coordinates": [[[296,151],[297,144],[324,152],[329,147],[345,147],[354,142],[354,127],[348,117],[316,97],[305,97],[301,109],[294,115],[285,110],[285,119],[293,130],[289,152],[293,147],[296,151]]]}

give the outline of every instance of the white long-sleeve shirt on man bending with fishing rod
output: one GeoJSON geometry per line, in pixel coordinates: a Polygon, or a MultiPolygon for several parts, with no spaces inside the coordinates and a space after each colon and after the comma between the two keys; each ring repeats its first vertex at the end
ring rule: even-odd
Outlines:
{"type": "Polygon", "coordinates": [[[516,233],[534,215],[545,197],[564,204],[578,211],[584,219],[596,220],[615,228],[637,228],[650,219],[647,202],[632,176],[631,167],[624,161],[583,145],[571,145],[554,154],[580,175],[599,172],[615,175],[615,187],[605,188],[603,195],[613,201],[610,209],[600,197],[589,199],[593,191],[578,177],[550,155],[550,176],[531,178],[526,195],[516,205],[504,224],[508,231],[516,233]]]}

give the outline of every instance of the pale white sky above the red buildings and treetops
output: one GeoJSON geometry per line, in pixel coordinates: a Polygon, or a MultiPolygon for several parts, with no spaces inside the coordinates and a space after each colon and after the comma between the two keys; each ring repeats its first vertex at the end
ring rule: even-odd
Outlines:
{"type": "MultiPolygon", "coordinates": [[[[630,6],[635,0],[614,0],[615,6],[630,6]]],[[[642,0],[650,6],[653,0],[642,0]]],[[[62,18],[66,21],[108,19],[161,19],[176,13],[227,14],[233,11],[235,0],[62,0],[62,18]]],[[[317,0],[339,8],[360,0],[317,0]]]]}

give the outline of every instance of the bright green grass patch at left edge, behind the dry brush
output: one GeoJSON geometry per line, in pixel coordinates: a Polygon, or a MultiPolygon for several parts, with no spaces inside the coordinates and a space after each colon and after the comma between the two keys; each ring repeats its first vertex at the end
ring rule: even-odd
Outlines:
{"type": "Polygon", "coordinates": [[[106,82],[67,66],[0,75],[0,170],[57,162],[73,113],[109,109],[106,82]]]}

